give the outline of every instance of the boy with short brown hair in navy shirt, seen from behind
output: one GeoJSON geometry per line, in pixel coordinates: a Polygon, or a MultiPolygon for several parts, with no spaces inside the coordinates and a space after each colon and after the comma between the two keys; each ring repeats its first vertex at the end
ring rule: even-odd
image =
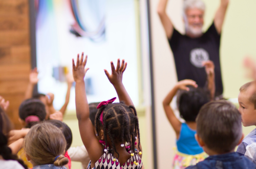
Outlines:
{"type": "Polygon", "coordinates": [[[205,104],[197,117],[195,137],[209,157],[187,169],[256,168],[249,159],[234,152],[244,135],[241,115],[230,102],[222,100],[205,104]]]}

